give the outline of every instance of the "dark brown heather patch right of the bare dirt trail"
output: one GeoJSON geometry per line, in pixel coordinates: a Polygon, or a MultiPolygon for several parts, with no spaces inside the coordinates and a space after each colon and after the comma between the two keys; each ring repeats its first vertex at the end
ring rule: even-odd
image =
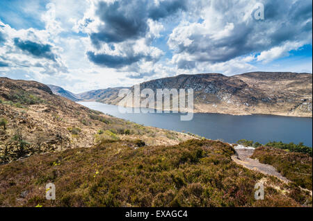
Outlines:
{"type": "Polygon", "coordinates": [[[284,177],[295,182],[297,186],[312,190],[312,157],[310,154],[289,152],[272,147],[255,149],[251,158],[257,158],[261,163],[267,163],[284,177]]]}

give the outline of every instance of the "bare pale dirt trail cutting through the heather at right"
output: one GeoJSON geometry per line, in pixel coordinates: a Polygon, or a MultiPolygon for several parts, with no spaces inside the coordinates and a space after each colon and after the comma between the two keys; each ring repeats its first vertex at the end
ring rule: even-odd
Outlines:
{"type": "Polygon", "coordinates": [[[236,163],[250,169],[257,170],[259,173],[265,175],[272,175],[282,180],[282,182],[288,183],[289,179],[283,177],[278,171],[271,165],[260,163],[257,159],[251,159],[254,148],[234,148],[236,150],[236,155],[232,156],[232,160],[236,163]]]}

